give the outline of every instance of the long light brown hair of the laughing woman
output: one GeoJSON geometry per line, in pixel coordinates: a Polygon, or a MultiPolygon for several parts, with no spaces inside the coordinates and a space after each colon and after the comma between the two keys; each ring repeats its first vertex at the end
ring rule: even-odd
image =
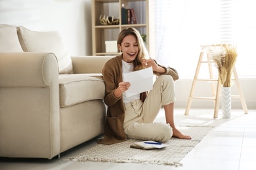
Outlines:
{"type": "Polygon", "coordinates": [[[123,29],[118,37],[117,37],[117,46],[118,44],[121,46],[121,42],[127,35],[133,35],[137,39],[137,44],[139,46],[139,52],[135,60],[133,60],[133,71],[137,71],[140,69],[144,69],[142,65],[142,59],[149,58],[148,51],[146,50],[146,46],[142,40],[142,37],[140,36],[140,33],[137,29],[134,27],[127,27],[123,29]]]}

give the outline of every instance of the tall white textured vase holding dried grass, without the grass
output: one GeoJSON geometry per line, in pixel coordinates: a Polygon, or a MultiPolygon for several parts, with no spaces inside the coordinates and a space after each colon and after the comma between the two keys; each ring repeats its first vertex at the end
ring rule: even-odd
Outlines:
{"type": "Polygon", "coordinates": [[[223,118],[231,118],[231,87],[222,87],[223,118]]]}

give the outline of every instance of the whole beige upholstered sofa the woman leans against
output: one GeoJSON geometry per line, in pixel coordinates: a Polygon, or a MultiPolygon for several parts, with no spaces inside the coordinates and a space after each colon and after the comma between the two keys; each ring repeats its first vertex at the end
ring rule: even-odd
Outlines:
{"type": "Polygon", "coordinates": [[[0,156],[52,159],[101,135],[110,58],[70,56],[57,31],[0,25],[0,156]]]}

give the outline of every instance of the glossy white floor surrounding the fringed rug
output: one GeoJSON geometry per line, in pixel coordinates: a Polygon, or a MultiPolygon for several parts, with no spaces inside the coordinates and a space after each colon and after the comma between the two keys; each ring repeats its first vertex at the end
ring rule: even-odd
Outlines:
{"type": "MultiPolygon", "coordinates": [[[[249,114],[244,114],[243,110],[232,110],[230,119],[223,119],[221,110],[219,118],[216,119],[213,119],[213,110],[208,109],[191,109],[189,114],[184,116],[184,109],[175,109],[176,124],[215,127],[181,160],[182,167],[137,163],[72,162],[56,158],[53,160],[0,158],[0,169],[256,169],[256,110],[249,110],[249,114]]],[[[156,121],[165,121],[163,110],[156,121]]],[[[74,156],[95,144],[95,140],[88,141],[62,153],[61,157],[74,156]]]]}

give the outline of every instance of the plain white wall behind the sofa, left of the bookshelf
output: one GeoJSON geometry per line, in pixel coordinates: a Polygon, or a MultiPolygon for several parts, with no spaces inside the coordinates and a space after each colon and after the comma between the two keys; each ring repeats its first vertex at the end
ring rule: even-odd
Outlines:
{"type": "Polygon", "coordinates": [[[59,31],[72,56],[91,55],[91,0],[0,0],[0,24],[59,31]]]}

